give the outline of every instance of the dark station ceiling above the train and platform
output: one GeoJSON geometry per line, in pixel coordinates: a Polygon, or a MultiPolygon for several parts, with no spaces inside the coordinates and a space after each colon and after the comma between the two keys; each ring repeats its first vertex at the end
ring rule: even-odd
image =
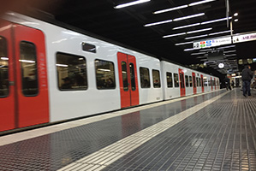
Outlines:
{"type": "MultiPolygon", "coordinates": [[[[215,32],[230,31],[230,21],[233,24],[233,34],[241,32],[256,31],[256,1],[255,0],[229,0],[229,17],[227,22],[217,21],[209,24],[202,24],[205,21],[214,21],[227,17],[226,0],[212,0],[208,3],[193,5],[203,0],[151,0],[146,3],[129,6],[123,9],[115,7],[122,3],[130,3],[134,0],[45,0],[44,3],[27,3],[27,12],[37,10],[73,27],[78,27],[87,32],[99,35],[103,38],[114,40],[125,44],[135,50],[152,54],[159,59],[167,59],[171,62],[190,65],[207,62],[206,56],[191,55],[199,53],[199,50],[188,50],[193,44],[180,43],[193,42],[202,38],[216,38],[230,35],[230,32],[209,35],[215,32]],[[183,9],[171,10],[168,12],[154,14],[154,12],[176,7],[183,9]],[[234,14],[237,13],[237,16],[234,14]],[[179,18],[190,15],[200,15],[180,20],[179,18]],[[176,20],[175,20],[176,19],[176,20]],[[238,21],[235,21],[238,19],[238,21]],[[170,21],[171,20],[171,21],[170,21]],[[147,24],[166,21],[146,27],[147,24]],[[169,21],[169,22],[168,22],[169,21]],[[198,24],[200,23],[200,24],[198,24]],[[174,29],[194,24],[193,27],[174,29]],[[202,29],[208,31],[192,32],[202,29]],[[179,36],[164,38],[166,35],[187,32],[179,36]],[[201,35],[208,35],[202,38],[191,38],[201,35]]],[[[255,42],[235,44],[235,46],[224,49],[224,62],[226,68],[218,69],[217,63],[208,63],[212,69],[225,74],[228,70],[237,71],[237,59],[255,58],[255,42]],[[230,56],[231,55],[231,56],[230,56]]],[[[225,47],[227,45],[223,45],[225,47]]]]}

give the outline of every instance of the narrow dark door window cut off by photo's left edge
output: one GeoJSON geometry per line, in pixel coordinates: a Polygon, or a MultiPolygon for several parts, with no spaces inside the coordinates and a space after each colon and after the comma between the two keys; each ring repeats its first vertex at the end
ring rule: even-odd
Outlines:
{"type": "Polygon", "coordinates": [[[6,38],[0,37],[0,97],[9,95],[9,57],[6,38]]]}

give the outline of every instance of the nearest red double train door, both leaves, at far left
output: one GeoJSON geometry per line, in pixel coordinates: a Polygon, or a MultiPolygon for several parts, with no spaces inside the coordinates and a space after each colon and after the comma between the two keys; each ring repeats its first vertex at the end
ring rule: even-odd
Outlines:
{"type": "Polygon", "coordinates": [[[2,28],[8,51],[0,61],[0,131],[49,122],[44,33],[12,23],[2,28]]]}

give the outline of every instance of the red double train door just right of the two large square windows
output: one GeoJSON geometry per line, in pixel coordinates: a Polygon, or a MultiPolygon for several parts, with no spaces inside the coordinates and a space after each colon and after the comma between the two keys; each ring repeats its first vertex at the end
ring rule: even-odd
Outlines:
{"type": "Polygon", "coordinates": [[[139,104],[139,89],[136,58],[121,52],[117,53],[121,108],[139,104]]]}

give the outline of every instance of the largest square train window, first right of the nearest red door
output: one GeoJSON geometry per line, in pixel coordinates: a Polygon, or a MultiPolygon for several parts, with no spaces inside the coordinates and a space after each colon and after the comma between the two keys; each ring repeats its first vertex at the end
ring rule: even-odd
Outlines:
{"type": "Polygon", "coordinates": [[[66,53],[57,53],[57,80],[61,91],[86,90],[86,58],[66,53]]]}

